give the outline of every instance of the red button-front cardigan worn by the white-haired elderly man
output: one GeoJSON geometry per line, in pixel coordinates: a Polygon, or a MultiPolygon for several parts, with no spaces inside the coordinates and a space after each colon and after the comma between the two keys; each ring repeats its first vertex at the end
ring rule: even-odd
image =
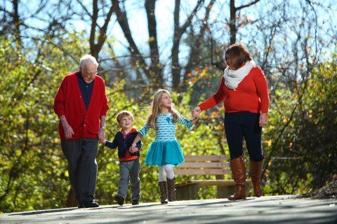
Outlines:
{"type": "Polygon", "coordinates": [[[88,111],[86,111],[84,99],[81,90],[79,90],[77,73],[79,71],[65,76],[54,99],[55,113],[58,116],[64,115],[74,131],[71,139],[65,139],[65,132],[61,122],[59,122],[60,138],[62,140],[97,139],[100,116],[106,116],[107,109],[109,109],[107,95],[105,94],[105,83],[103,78],[95,76],[90,104],[88,111]]]}

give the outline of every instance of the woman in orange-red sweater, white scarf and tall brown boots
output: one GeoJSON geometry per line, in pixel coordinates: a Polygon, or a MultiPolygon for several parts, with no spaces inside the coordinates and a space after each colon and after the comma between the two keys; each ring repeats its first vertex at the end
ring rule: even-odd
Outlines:
{"type": "Polygon", "coordinates": [[[250,159],[250,174],[256,197],[263,195],[260,173],[263,167],[261,148],[262,127],[267,123],[269,97],[263,71],[255,65],[253,58],[242,43],[234,43],[225,51],[227,68],[218,91],[199,104],[193,111],[199,116],[224,101],[225,133],[230,148],[230,167],[235,182],[235,193],[229,200],[246,199],[243,139],[250,159]]]}

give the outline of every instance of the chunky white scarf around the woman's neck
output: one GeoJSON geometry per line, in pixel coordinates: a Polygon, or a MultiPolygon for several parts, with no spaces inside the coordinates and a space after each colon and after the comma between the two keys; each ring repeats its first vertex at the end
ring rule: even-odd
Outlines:
{"type": "Polygon", "coordinates": [[[225,78],[225,85],[231,90],[236,89],[242,79],[249,74],[249,71],[251,71],[253,67],[255,67],[255,62],[253,60],[246,62],[244,66],[237,70],[232,70],[227,67],[223,74],[223,78],[225,78]]]}

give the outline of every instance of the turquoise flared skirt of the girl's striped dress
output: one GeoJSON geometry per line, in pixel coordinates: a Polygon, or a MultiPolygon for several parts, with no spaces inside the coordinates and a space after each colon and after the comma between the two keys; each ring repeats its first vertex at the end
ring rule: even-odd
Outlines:
{"type": "Polygon", "coordinates": [[[184,161],[183,151],[177,140],[152,142],[145,158],[147,165],[158,166],[166,164],[177,166],[184,161]]]}

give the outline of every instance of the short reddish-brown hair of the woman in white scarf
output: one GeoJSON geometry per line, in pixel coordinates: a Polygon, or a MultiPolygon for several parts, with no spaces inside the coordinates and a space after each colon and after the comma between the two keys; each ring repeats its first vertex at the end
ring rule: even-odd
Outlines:
{"type": "Polygon", "coordinates": [[[246,49],[243,43],[234,43],[230,45],[225,51],[225,61],[227,65],[230,64],[232,69],[239,69],[244,62],[249,62],[253,59],[251,54],[246,49]]]}

